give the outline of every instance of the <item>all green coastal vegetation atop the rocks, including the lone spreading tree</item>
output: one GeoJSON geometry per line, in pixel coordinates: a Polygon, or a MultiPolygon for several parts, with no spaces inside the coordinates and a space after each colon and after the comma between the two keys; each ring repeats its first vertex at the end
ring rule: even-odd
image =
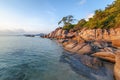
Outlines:
{"type": "Polygon", "coordinates": [[[92,18],[88,21],[81,19],[77,24],[72,24],[74,22],[74,17],[72,15],[65,16],[62,18],[58,24],[63,22],[63,29],[65,30],[80,30],[82,28],[88,29],[110,29],[120,26],[120,0],[115,0],[111,5],[107,5],[104,10],[98,9],[94,12],[92,18]]]}

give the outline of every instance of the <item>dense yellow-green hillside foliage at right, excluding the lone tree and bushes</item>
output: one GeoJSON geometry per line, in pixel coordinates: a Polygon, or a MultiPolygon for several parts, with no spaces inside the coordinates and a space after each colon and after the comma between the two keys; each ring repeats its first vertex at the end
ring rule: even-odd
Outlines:
{"type": "Polygon", "coordinates": [[[120,26],[120,0],[108,5],[105,10],[96,10],[92,18],[84,25],[87,28],[109,29],[120,26]]]}

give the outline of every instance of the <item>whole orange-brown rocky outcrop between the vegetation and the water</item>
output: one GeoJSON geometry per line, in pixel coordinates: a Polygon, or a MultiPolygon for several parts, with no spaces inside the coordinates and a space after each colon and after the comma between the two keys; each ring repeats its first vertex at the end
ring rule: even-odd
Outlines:
{"type": "Polygon", "coordinates": [[[116,54],[120,48],[120,28],[109,30],[83,28],[80,31],[57,28],[45,37],[57,39],[64,49],[72,54],[82,55],[79,57],[80,61],[90,68],[94,68],[96,65],[92,66],[92,64],[99,64],[99,61],[115,63],[115,77],[116,80],[120,80],[120,60],[119,54],[116,54]]]}

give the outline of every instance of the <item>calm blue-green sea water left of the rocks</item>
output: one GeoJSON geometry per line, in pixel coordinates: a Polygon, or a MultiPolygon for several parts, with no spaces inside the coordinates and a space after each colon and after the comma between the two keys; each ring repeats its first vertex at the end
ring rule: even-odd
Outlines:
{"type": "Polygon", "coordinates": [[[60,62],[63,52],[49,39],[0,36],[0,80],[87,80],[60,62]]]}

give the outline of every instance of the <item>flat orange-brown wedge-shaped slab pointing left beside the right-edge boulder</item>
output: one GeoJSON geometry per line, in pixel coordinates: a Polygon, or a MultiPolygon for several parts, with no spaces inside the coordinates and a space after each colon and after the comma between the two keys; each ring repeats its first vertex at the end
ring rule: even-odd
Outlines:
{"type": "Polygon", "coordinates": [[[112,52],[96,52],[92,55],[110,62],[115,62],[115,54],[112,52]]]}

